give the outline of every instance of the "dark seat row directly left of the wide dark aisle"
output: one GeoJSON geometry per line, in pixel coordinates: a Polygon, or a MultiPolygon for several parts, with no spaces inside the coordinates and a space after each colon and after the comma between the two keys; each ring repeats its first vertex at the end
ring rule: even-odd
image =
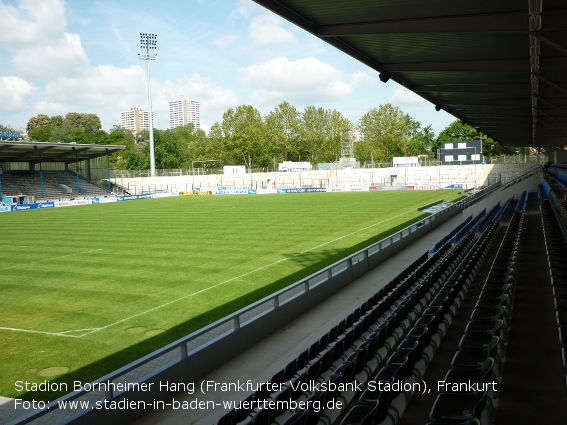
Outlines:
{"type": "Polygon", "coordinates": [[[491,423],[505,361],[524,215],[514,213],[431,409],[429,425],[491,423]],[[472,385],[471,385],[472,383],[472,385]]]}

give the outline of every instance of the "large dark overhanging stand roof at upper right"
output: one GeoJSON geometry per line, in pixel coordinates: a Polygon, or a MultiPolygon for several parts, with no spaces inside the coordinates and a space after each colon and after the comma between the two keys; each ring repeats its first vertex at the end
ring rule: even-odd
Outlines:
{"type": "Polygon", "coordinates": [[[504,145],[567,146],[565,0],[254,1],[504,145]]]}

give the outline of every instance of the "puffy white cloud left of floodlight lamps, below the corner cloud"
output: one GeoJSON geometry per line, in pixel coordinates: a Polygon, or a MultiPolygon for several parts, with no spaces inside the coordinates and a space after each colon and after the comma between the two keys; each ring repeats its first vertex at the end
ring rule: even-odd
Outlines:
{"type": "Polygon", "coordinates": [[[34,45],[17,50],[12,63],[21,75],[29,78],[52,79],[64,75],[83,74],[89,59],[78,34],[64,33],[48,45],[34,45]]]}

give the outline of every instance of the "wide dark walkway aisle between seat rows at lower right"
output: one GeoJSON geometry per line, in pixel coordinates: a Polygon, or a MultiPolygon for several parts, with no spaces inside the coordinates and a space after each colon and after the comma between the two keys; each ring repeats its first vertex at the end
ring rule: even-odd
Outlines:
{"type": "Polygon", "coordinates": [[[539,212],[530,194],[496,425],[567,423],[564,372],[539,212]],[[526,360],[529,359],[529,360],[526,360]]]}

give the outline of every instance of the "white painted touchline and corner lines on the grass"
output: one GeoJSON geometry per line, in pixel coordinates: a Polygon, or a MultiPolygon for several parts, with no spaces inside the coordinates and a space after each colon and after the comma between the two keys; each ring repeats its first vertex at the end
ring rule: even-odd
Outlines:
{"type": "MultiPolygon", "coordinates": [[[[241,275],[239,275],[239,276],[235,276],[235,277],[233,277],[233,278],[231,278],[231,279],[225,280],[225,281],[223,281],[223,282],[217,283],[217,284],[215,284],[215,285],[209,286],[209,287],[207,287],[207,288],[201,289],[201,290],[196,291],[196,292],[193,292],[193,293],[191,293],[191,294],[184,295],[184,296],[182,296],[182,297],[180,297],[180,298],[177,298],[177,299],[175,299],[175,300],[168,301],[168,302],[166,302],[166,303],[164,303],[164,304],[161,304],[161,305],[158,305],[158,306],[156,306],[156,307],[150,308],[149,310],[142,311],[141,313],[134,314],[134,315],[132,315],[132,316],[126,317],[125,319],[118,320],[118,321],[116,321],[116,322],[114,322],[114,323],[110,323],[110,324],[108,324],[108,325],[106,325],[106,326],[102,326],[102,327],[100,327],[100,328],[74,329],[74,330],[64,331],[64,332],[32,331],[32,330],[27,330],[27,329],[5,328],[5,327],[0,327],[0,329],[12,330],[12,331],[17,331],[17,332],[41,333],[41,334],[48,334],[48,335],[63,336],[63,337],[68,337],[68,338],[82,338],[82,337],[84,337],[84,336],[86,336],[86,335],[90,335],[90,334],[92,334],[92,333],[94,333],[94,332],[102,331],[102,330],[104,330],[104,329],[107,329],[107,328],[110,328],[110,327],[112,327],[112,326],[118,325],[118,324],[120,324],[120,323],[126,322],[127,320],[134,319],[134,318],[139,317],[139,316],[143,316],[144,314],[151,313],[152,311],[159,310],[160,308],[163,308],[163,307],[167,307],[168,305],[174,304],[174,303],[176,303],[176,302],[178,302],[178,301],[181,301],[181,300],[184,300],[184,299],[193,297],[193,296],[195,296],[195,295],[202,294],[203,292],[207,292],[207,291],[209,291],[209,290],[211,290],[211,289],[217,288],[217,287],[219,287],[219,286],[221,286],[221,285],[225,285],[225,284],[227,284],[227,283],[229,283],[229,282],[234,282],[234,281],[236,281],[236,280],[241,280],[241,278],[243,278],[243,277],[245,277],[245,276],[249,276],[249,275],[251,275],[251,274],[253,274],[253,273],[256,273],[256,272],[258,272],[258,271],[260,271],[260,270],[264,270],[264,269],[267,269],[268,267],[274,266],[274,265],[276,265],[276,264],[283,263],[284,261],[290,260],[290,259],[292,259],[292,258],[294,258],[294,257],[297,257],[297,256],[301,255],[301,254],[305,254],[306,252],[313,251],[314,249],[321,248],[322,246],[328,245],[328,244],[330,244],[330,243],[339,241],[339,240],[344,239],[344,238],[348,238],[349,236],[355,235],[355,234],[360,233],[360,232],[362,232],[362,231],[366,231],[366,230],[371,229],[371,228],[373,228],[373,227],[375,227],[375,226],[378,226],[379,224],[386,223],[386,222],[388,222],[388,221],[390,221],[390,220],[393,220],[393,219],[395,219],[395,218],[401,217],[401,216],[403,216],[403,215],[406,215],[406,214],[408,214],[408,213],[410,213],[410,212],[414,212],[414,211],[415,211],[415,209],[414,209],[414,208],[411,208],[411,209],[409,209],[408,211],[406,211],[406,212],[404,212],[404,213],[401,213],[401,214],[395,215],[395,216],[393,216],[393,217],[387,218],[386,220],[382,220],[382,221],[379,221],[379,222],[377,222],[377,223],[371,224],[370,226],[363,227],[362,229],[358,229],[358,230],[356,230],[356,231],[354,231],[354,232],[351,232],[351,233],[348,233],[348,234],[346,234],[346,235],[340,236],[340,237],[338,237],[338,238],[332,239],[332,240],[330,240],[330,241],[328,241],[328,242],[325,242],[325,243],[322,243],[322,244],[320,244],[320,245],[311,247],[311,248],[309,248],[309,249],[306,249],[305,251],[301,251],[301,252],[298,252],[298,253],[296,253],[296,254],[293,254],[293,255],[291,255],[291,256],[289,256],[289,257],[282,258],[281,260],[275,261],[275,262],[273,262],[273,263],[266,264],[265,266],[259,267],[259,268],[255,269],[255,270],[251,270],[251,271],[249,271],[249,272],[246,272],[246,273],[241,274],[241,275]],[[82,331],[87,331],[87,332],[85,332],[85,333],[83,333],[83,334],[80,334],[80,335],[67,335],[67,334],[69,334],[69,333],[82,332],[82,331]]],[[[86,251],[86,252],[82,252],[82,253],[69,254],[69,255],[86,254],[87,252],[93,252],[93,251],[101,251],[101,249],[95,249],[95,250],[92,250],[92,251],[86,251]]],[[[58,258],[58,257],[57,257],[57,258],[58,258]]],[[[44,261],[45,261],[45,260],[44,260],[44,261]]],[[[32,263],[28,263],[28,264],[32,264],[32,263]]]]}

